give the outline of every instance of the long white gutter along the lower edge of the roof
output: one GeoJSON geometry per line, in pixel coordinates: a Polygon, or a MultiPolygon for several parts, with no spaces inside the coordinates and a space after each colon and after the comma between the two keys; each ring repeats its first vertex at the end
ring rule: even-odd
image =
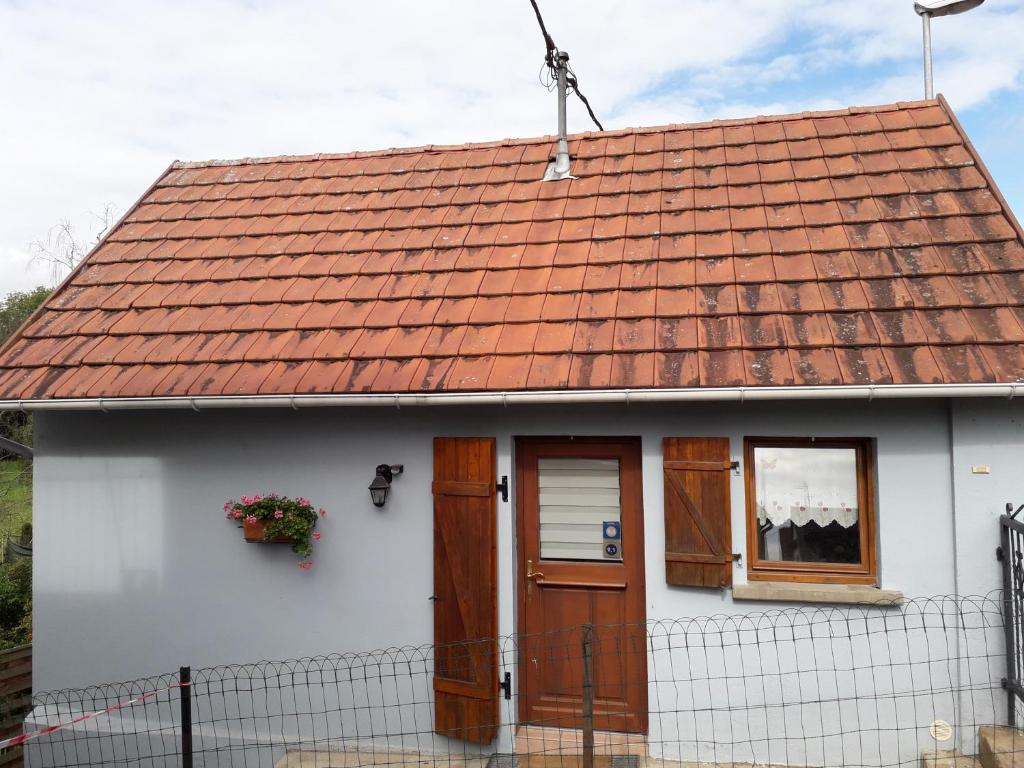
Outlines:
{"type": "Polygon", "coordinates": [[[146,411],[232,408],[412,406],[528,406],[543,403],[745,402],[756,400],[876,400],[997,397],[1024,394],[1024,382],[1006,384],[863,384],[851,386],[690,387],[674,389],[560,389],[493,392],[267,394],[174,397],[89,397],[0,400],[0,411],[146,411]]]}

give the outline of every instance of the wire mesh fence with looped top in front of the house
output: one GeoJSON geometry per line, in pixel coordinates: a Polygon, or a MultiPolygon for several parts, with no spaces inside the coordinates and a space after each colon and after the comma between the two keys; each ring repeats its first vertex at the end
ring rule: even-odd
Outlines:
{"type": "MultiPolygon", "coordinates": [[[[1006,722],[1005,674],[995,595],[579,626],[193,670],[185,688],[173,674],[40,693],[30,731],[150,697],[34,739],[26,759],[61,767],[577,765],[593,732],[599,767],[888,768],[918,765],[928,751],[978,752],[979,726],[1006,722]],[[511,683],[492,695],[506,674],[511,683]],[[440,714],[438,691],[449,708],[440,714]]],[[[1021,752],[1024,759],[1024,743],[1021,752]]]]}

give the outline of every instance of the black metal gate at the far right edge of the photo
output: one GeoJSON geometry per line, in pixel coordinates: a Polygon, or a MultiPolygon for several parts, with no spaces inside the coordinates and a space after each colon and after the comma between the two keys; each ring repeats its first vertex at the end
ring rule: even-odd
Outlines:
{"type": "Polygon", "coordinates": [[[1017,702],[1024,701],[1024,521],[1007,504],[999,517],[999,548],[995,556],[1002,565],[1002,627],[1007,638],[1007,723],[1016,726],[1017,702]]]}

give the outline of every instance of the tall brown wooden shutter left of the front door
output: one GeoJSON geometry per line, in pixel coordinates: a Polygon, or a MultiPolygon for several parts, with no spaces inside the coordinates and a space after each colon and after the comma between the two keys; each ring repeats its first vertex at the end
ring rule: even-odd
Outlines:
{"type": "Polygon", "coordinates": [[[498,524],[493,437],[434,438],[434,728],[498,733],[498,524]]]}

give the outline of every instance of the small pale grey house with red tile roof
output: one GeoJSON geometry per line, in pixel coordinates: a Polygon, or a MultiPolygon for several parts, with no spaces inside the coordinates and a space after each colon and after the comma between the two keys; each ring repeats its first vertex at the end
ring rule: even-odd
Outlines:
{"type": "MultiPolygon", "coordinates": [[[[593,624],[617,649],[595,658],[595,722],[623,743],[850,755],[786,715],[803,683],[772,710],[769,672],[726,644],[708,701],[671,706],[660,630],[623,649],[658,620],[858,604],[884,625],[1000,586],[1024,232],[941,98],[569,145],[560,180],[543,137],[175,163],[142,195],[0,354],[0,407],[36,419],[38,690],[514,636],[509,670],[438,656],[416,733],[522,752],[530,727],[580,727],[577,662],[551,649],[593,624]],[[271,493],[326,509],[310,558],[225,521],[271,493]],[[731,718],[678,717],[714,714],[716,686],[731,718]],[[770,733],[740,733],[759,708],[770,733]]],[[[943,637],[945,677],[892,717],[971,750],[1006,718],[979,682],[1004,648],[943,637]]],[[[854,640],[829,653],[834,677],[868,664],[854,640]]],[[[880,707],[857,764],[915,759],[880,707]]]]}

